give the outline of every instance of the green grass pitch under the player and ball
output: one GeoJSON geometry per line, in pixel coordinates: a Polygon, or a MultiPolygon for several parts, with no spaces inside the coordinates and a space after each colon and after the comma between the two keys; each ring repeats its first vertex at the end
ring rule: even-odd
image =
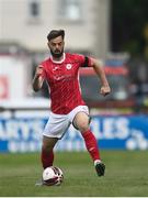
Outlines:
{"type": "Polygon", "coordinates": [[[60,186],[35,187],[39,154],[0,154],[1,197],[148,197],[148,152],[102,151],[105,177],[98,177],[86,152],[56,153],[65,176],[60,186]]]}

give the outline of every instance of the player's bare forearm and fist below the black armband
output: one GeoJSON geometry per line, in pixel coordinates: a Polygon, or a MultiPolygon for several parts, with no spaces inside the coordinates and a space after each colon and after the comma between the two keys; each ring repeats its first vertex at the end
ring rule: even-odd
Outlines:
{"type": "Polygon", "coordinates": [[[103,96],[109,95],[111,92],[111,88],[106,79],[105,72],[103,69],[103,63],[99,59],[91,58],[91,66],[93,67],[101,80],[100,94],[103,96]]]}

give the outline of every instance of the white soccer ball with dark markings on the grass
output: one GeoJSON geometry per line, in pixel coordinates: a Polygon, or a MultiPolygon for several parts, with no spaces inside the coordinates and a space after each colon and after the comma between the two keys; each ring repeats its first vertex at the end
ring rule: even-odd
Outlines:
{"type": "Polygon", "coordinates": [[[64,174],[59,167],[50,166],[43,172],[43,183],[47,186],[58,186],[64,180],[64,174]]]}

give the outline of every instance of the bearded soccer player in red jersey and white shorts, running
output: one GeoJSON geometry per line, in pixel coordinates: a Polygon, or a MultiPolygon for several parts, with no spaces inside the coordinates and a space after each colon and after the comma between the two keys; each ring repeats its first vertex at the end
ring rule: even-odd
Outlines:
{"type": "Polygon", "coordinates": [[[33,78],[35,91],[42,88],[44,80],[47,81],[52,100],[49,120],[43,131],[41,154],[43,168],[53,165],[54,146],[72,124],[81,132],[98,176],[103,176],[105,165],[101,161],[96,140],[89,127],[89,109],[82,99],[78,77],[79,67],[93,67],[101,80],[100,94],[106,96],[111,88],[102,64],[92,57],[65,53],[64,30],[52,30],[47,41],[50,56],[36,67],[33,78]]]}

